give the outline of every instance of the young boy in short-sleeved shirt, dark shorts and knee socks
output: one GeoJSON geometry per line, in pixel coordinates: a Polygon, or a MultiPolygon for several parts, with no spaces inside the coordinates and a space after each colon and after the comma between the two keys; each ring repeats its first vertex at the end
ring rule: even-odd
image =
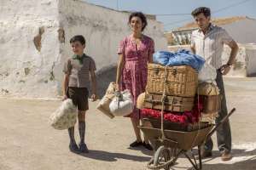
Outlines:
{"type": "Polygon", "coordinates": [[[63,72],[65,73],[63,81],[64,99],[70,98],[73,104],[78,107],[79,119],[79,146],[74,139],[74,127],[68,128],[70,138],[69,150],[77,153],[88,153],[87,145],[84,143],[85,135],[85,111],[89,109],[88,105],[88,85],[91,80],[92,95],[91,99],[96,100],[96,64],[95,61],[84,54],[85,39],[83,36],[74,36],[70,39],[73,50],[73,57],[67,59],[63,72]]]}

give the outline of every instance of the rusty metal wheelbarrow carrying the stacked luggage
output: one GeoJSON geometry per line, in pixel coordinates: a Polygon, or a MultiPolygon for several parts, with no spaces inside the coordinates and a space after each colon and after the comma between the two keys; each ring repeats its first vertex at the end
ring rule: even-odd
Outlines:
{"type": "Polygon", "coordinates": [[[228,118],[236,111],[233,108],[230,113],[218,124],[199,124],[198,129],[193,131],[177,131],[164,129],[163,115],[161,116],[160,127],[145,127],[139,126],[143,133],[148,137],[151,144],[154,146],[154,156],[148,162],[148,169],[169,170],[179,156],[185,156],[195,170],[202,168],[201,163],[201,145],[205,144],[212,134],[221,126],[228,118]],[[192,151],[193,148],[198,147],[198,161],[192,151]],[[189,154],[189,152],[191,154],[189,154]]]}

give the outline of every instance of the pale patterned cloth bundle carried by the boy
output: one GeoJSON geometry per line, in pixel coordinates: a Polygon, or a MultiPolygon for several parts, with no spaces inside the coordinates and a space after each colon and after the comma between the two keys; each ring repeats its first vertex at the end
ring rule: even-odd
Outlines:
{"type": "Polygon", "coordinates": [[[77,122],[77,108],[72,99],[64,100],[59,108],[49,116],[49,124],[58,130],[73,127],[77,122]]]}

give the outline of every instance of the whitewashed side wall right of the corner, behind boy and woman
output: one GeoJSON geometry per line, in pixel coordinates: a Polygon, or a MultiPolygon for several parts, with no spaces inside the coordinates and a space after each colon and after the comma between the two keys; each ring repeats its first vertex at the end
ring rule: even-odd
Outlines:
{"type": "MultiPolygon", "coordinates": [[[[61,0],[59,8],[61,26],[65,30],[67,40],[63,47],[65,57],[72,54],[69,39],[81,34],[86,39],[85,52],[96,60],[98,70],[117,63],[119,41],[131,34],[127,25],[128,13],[70,0],[61,0]]],[[[163,25],[160,22],[148,20],[144,33],[154,39],[156,49],[167,48],[163,25]]]]}

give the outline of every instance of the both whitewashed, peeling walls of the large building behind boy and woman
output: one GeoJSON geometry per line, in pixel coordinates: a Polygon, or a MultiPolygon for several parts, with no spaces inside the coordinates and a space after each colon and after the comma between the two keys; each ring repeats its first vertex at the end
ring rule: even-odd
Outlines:
{"type": "MultiPolygon", "coordinates": [[[[86,38],[85,53],[100,71],[117,63],[119,41],[130,34],[129,14],[77,0],[0,1],[0,8],[0,96],[55,98],[61,94],[64,61],[72,55],[71,37],[86,38]],[[41,48],[36,48],[39,30],[41,48]]],[[[167,48],[163,32],[159,22],[148,20],[145,34],[154,38],[156,49],[167,48]]]]}

